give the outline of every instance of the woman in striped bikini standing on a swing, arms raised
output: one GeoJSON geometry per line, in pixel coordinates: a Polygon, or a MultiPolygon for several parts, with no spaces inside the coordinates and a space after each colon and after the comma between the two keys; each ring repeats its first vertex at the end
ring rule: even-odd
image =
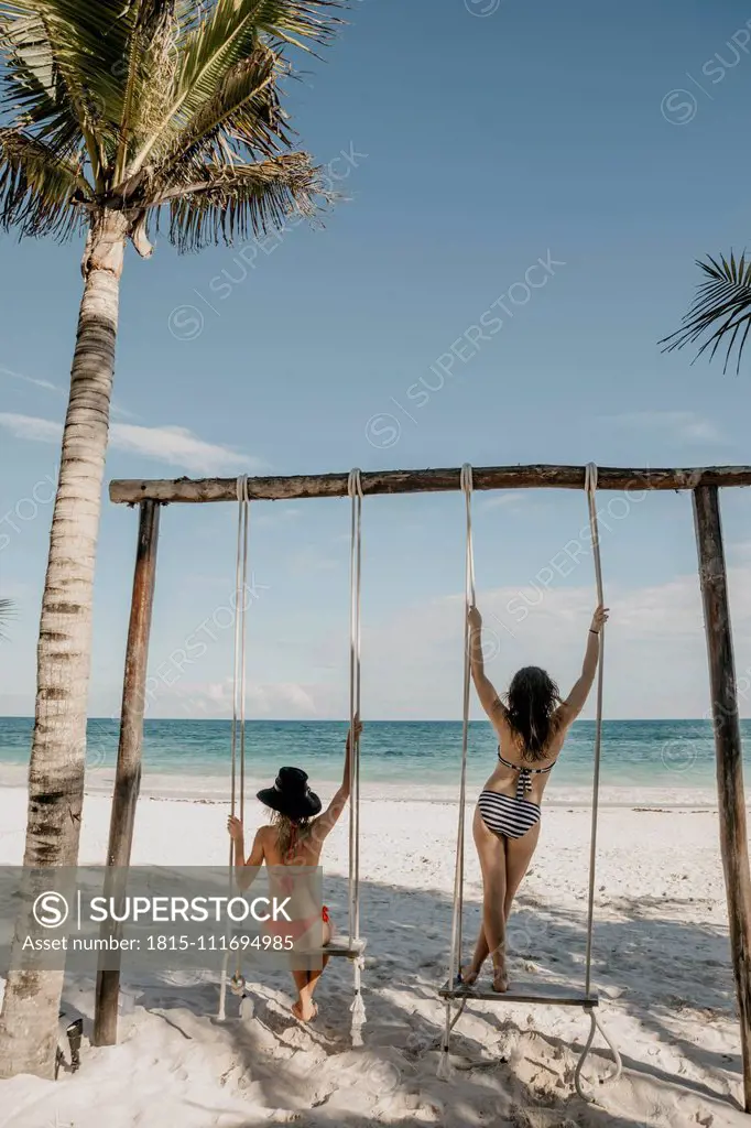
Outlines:
{"type": "Polygon", "coordinates": [[[461,981],[471,986],[493,955],[493,989],[509,989],[506,920],[540,835],[540,802],[566,732],[584,707],[600,656],[600,631],[608,609],[592,617],[582,673],[566,700],[537,666],[514,675],[502,700],[485,675],[483,619],[469,611],[470,659],[475,688],[498,737],[498,763],[477,802],[475,845],[483,871],[483,927],[461,981]]]}

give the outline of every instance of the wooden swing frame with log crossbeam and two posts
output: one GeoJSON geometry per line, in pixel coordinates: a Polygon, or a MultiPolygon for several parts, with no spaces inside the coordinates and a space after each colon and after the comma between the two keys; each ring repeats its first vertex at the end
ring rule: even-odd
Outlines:
{"type": "MultiPolygon", "coordinates": [[[[496,466],[472,468],[475,491],[557,488],[584,490],[584,466],[496,466]]],[[[363,473],[364,496],[374,494],[459,491],[460,469],[383,470],[363,473]]],[[[251,501],[346,497],[348,474],[250,477],[251,501]]],[[[719,488],[751,485],[751,466],[680,468],[598,467],[598,491],[691,491],[704,605],[712,691],[719,838],[727,897],[733,973],[740,1014],[744,1108],[751,1112],[751,867],[743,785],[741,726],[735,685],[727,572],[719,513],[719,488]]],[[[141,779],[145,682],[151,614],[157,574],[159,510],[166,504],[237,502],[237,478],[114,481],[109,500],[140,509],[138,549],[125,655],[117,767],[113,795],[107,864],[127,867],[141,779]]],[[[449,986],[444,988],[448,990],[449,986]]],[[[515,993],[516,994],[516,993],[515,993]]],[[[574,994],[574,993],[569,993],[574,994]]],[[[117,1040],[120,971],[100,971],[94,1041],[117,1040]]],[[[465,993],[462,993],[462,997],[465,993]]],[[[481,993],[466,992],[466,997],[481,993]]],[[[527,997],[519,1002],[527,1001],[527,997]]],[[[539,1001],[539,993],[529,1002],[539,1001]]],[[[566,1005],[565,998],[556,998],[566,1005]]],[[[571,998],[568,1005],[587,1005],[571,998]]],[[[594,998],[589,1001],[594,1005],[594,998]]]]}

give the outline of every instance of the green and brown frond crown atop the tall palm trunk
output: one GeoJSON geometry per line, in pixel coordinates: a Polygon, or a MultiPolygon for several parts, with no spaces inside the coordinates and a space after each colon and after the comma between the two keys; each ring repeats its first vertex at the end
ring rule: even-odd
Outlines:
{"type": "Polygon", "coordinates": [[[166,202],[180,249],[310,213],[318,180],[289,151],[279,83],[288,44],[324,42],[337,7],[0,0],[0,223],[65,238],[87,210],[123,211],[148,254],[166,202]]]}

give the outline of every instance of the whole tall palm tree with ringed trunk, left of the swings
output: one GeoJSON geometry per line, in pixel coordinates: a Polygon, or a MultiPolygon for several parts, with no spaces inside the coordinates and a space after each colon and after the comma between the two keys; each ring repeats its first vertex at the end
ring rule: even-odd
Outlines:
{"type": "MultiPolygon", "coordinates": [[[[125,246],[148,257],[263,235],[323,202],[291,151],[290,46],[337,0],[0,0],[0,223],[86,235],[37,650],[25,865],[74,865],[91,598],[125,246]]],[[[9,975],[0,1076],[53,1075],[62,975],[9,975]]]]}

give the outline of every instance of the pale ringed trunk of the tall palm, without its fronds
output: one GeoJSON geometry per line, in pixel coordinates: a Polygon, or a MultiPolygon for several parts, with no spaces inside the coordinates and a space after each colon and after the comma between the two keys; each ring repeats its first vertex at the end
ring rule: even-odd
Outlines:
{"type": "MultiPolygon", "coordinates": [[[[29,765],[24,865],[74,866],[83,803],[91,605],[120,277],[127,222],[92,217],[81,268],[85,288],[71,370],[60,479],[37,646],[37,690],[29,765]]],[[[12,964],[33,932],[16,922],[12,964]]],[[[10,971],[0,1016],[0,1077],[54,1075],[63,972],[10,971]]]]}

